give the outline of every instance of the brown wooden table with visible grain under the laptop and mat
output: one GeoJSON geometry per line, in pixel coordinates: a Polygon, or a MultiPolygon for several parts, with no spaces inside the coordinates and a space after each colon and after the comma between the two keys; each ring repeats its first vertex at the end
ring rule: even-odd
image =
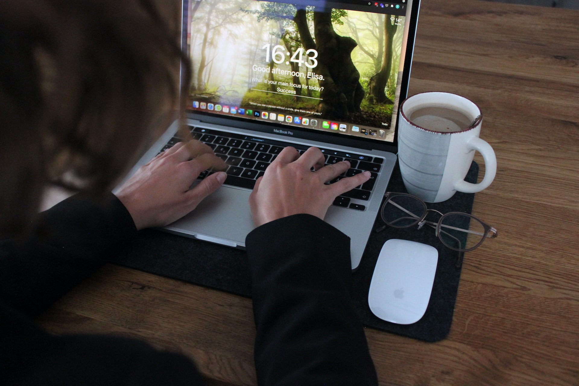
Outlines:
{"type": "MultiPolygon", "coordinates": [[[[498,170],[473,213],[499,237],[466,254],[448,339],[366,330],[380,384],[577,385],[579,12],[424,0],[409,94],[432,90],[483,111],[498,170]]],[[[108,265],[40,320],[184,352],[210,385],[255,385],[250,299],[108,265]]]]}

